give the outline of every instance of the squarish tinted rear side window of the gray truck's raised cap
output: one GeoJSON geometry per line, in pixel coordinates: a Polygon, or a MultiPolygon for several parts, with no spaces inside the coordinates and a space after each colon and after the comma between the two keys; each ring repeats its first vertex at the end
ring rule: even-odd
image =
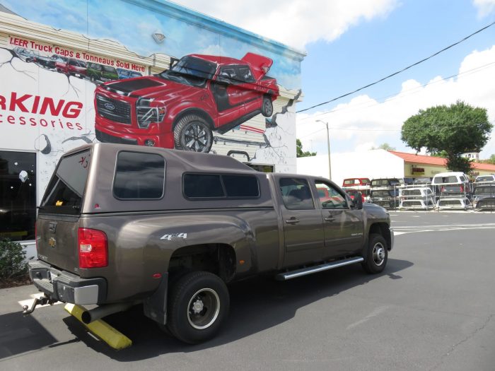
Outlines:
{"type": "Polygon", "coordinates": [[[120,152],[113,182],[119,199],[160,199],[165,183],[165,160],[161,155],[120,152]]]}

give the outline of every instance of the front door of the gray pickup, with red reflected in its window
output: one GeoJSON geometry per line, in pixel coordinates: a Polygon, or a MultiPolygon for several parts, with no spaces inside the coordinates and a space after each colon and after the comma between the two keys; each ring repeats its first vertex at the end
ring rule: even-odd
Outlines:
{"type": "Polygon", "coordinates": [[[342,189],[316,180],[325,230],[324,259],[344,257],[359,252],[363,243],[363,211],[350,208],[342,189]]]}

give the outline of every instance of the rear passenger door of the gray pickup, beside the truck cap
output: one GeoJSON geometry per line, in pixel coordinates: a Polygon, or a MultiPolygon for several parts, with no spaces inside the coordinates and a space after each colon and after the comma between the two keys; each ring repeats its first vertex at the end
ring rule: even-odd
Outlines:
{"type": "Polygon", "coordinates": [[[281,177],[281,214],[284,223],[284,266],[322,260],[323,222],[310,184],[304,178],[281,177]]]}

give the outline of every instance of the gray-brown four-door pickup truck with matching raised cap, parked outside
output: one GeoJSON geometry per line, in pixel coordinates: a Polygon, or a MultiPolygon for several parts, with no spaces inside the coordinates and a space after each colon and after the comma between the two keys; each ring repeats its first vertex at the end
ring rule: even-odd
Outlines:
{"type": "Polygon", "coordinates": [[[56,301],[96,304],[90,323],[142,304],[186,343],[214,336],[227,284],[284,281],[348,264],[385,268],[384,208],[351,201],[320,177],[256,172],[234,158],[95,143],[66,153],[36,222],[30,278],[56,301]]]}

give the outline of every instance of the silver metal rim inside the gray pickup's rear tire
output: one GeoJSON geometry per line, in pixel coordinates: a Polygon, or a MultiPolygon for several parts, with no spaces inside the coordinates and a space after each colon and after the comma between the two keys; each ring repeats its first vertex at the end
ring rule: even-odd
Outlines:
{"type": "Polygon", "coordinates": [[[203,330],[214,324],[219,312],[219,295],[211,288],[202,288],[189,300],[187,320],[194,329],[203,330]]]}

